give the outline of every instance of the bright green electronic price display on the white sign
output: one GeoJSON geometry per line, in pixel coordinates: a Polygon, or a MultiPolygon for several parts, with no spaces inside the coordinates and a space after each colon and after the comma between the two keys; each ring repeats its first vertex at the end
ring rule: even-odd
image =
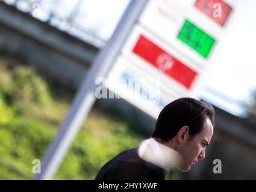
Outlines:
{"type": "Polygon", "coordinates": [[[204,58],[207,58],[215,43],[214,38],[193,25],[189,20],[185,20],[177,38],[187,44],[187,46],[192,47],[193,50],[198,52],[204,58]]]}

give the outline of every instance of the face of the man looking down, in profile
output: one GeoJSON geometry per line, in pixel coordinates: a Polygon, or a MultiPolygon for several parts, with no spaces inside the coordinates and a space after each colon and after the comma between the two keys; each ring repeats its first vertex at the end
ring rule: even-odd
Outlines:
{"type": "Polygon", "coordinates": [[[182,172],[188,172],[191,167],[195,166],[198,160],[204,160],[205,148],[209,145],[213,136],[213,125],[209,118],[205,120],[204,127],[199,134],[189,137],[187,142],[180,144],[177,151],[183,157],[183,163],[177,167],[182,172]]]}

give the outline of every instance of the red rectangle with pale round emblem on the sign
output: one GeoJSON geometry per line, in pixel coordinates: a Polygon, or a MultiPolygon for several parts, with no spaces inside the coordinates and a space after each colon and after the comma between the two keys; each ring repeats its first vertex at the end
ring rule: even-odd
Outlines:
{"type": "Polygon", "coordinates": [[[164,74],[172,77],[172,79],[175,79],[187,89],[190,88],[197,75],[197,73],[187,67],[187,65],[178,61],[165,50],[143,37],[143,35],[140,35],[133,49],[133,53],[145,59],[149,64],[163,71],[164,74]]]}

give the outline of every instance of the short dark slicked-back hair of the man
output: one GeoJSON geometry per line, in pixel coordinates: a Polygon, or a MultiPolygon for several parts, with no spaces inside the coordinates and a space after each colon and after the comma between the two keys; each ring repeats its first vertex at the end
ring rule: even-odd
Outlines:
{"type": "Polygon", "coordinates": [[[179,98],[161,110],[152,137],[167,142],[185,125],[189,127],[189,135],[193,137],[202,131],[207,118],[214,126],[215,112],[211,104],[189,97],[179,98]]]}

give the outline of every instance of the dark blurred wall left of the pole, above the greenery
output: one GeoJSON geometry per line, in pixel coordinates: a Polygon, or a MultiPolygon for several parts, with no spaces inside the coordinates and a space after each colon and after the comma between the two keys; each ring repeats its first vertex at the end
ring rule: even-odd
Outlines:
{"type": "Polygon", "coordinates": [[[98,49],[0,1],[0,50],[78,86],[98,49]]]}

